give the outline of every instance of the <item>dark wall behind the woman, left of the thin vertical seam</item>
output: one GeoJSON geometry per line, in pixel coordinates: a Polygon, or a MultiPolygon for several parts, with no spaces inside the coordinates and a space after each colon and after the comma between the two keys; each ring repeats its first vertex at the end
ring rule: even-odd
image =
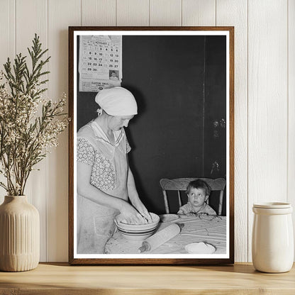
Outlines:
{"type": "MultiPolygon", "coordinates": [[[[210,176],[204,174],[204,163],[211,162],[206,159],[210,153],[205,148],[211,144],[205,143],[210,137],[204,127],[207,117],[210,121],[215,116],[206,116],[206,109],[215,106],[206,104],[206,99],[224,95],[212,87],[214,79],[223,76],[214,65],[220,56],[213,58],[223,43],[211,38],[213,43],[207,36],[123,36],[122,87],[138,101],[138,116],[126,130],[133,148],[129,161],[140,199],[149,211],[165,211],[161,178],[210,176]],[[211,64],[215,75],[206,72],[211,64]],[[207,84],[211,86],[206,90],[207,84]]],[[[224,81],[217,83],[225,89],[224,81]]],[[[78,92],[79,127],[96,116],[95,95],[78,92]]],[[[177,211],[175,201],[172,211],[177,211]]]]}

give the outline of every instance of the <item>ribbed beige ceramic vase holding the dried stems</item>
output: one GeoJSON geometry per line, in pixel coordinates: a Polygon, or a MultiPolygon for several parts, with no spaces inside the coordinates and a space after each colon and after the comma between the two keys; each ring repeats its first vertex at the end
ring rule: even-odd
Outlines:
{"type": "Polygon", "coordinates": [[[5,196],[0,206],[0,270],[23,272],[38,266],[40,221],[26,196],[5,196]]]}

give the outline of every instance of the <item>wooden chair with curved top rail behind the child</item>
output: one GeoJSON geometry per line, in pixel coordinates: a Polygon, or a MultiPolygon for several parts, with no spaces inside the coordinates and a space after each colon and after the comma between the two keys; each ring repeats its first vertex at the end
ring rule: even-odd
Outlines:
{"type": "Polygon", "coordinates": [[[211,191],[220,191],[219,194],[219,203],[218,203],[218,213],[217,215],[221,215],[222,206],[223,206],[223,192],[226,187],[226,179],[217,178],[177,178],[177,179],[167,179],[162,178],[160,179],[160,186],[162,188],[163,196],[164,196],[164,203],[165,203],[165,211],[169,213],[169,204],[167,198],[167,191],[177,191],[178,192],[178,201],[179,207],[182,206],[182,198],[180,197],[180,191],[186,191],[187,185],[192,180],[201,179],[204,180],[210,187],[211,191]]]}

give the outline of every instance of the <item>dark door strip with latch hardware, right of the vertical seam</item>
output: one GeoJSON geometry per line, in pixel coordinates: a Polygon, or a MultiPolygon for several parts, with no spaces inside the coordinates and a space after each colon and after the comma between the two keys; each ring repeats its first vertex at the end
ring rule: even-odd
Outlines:
{"type": "MultiPolygon", "coordinates": [[[[207,36],[205,46],[204,177],[226,178],[226,38],[207,36]]],[[[212,194],[218,208],[218,192],[212,194]]]]}

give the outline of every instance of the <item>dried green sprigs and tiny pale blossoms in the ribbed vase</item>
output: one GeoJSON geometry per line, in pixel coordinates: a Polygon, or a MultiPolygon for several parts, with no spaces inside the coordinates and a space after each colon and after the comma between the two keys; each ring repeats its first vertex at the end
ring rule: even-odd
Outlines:
{"type": "Polygon", "coordinates": [[[22,196],[33,167],[43,160],[50,147],[57,146],[57,138],[67,127],[64,113],[65,94],[56,102],[44,99],[42,88],[48,79],[43,67],[50,57],[41,60],[47,50],[41,49],[38,35],[26,56],[16,55],[14,65],[8,59],[5,72],[0,74],[0,174],[7,183],[0,182],[9,196],[22,196]]]}

